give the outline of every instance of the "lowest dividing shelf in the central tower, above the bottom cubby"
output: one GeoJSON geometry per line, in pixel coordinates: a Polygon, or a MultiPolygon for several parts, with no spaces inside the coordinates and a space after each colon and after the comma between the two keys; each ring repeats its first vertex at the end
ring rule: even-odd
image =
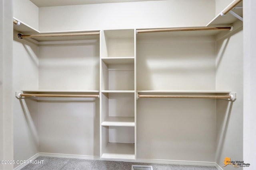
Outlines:
{"type": "Polygon", "coordinates": [[[134,117],[107,117],[105,121],[101,123],[102,126],[125,126],[134,127],[134,117]]]}

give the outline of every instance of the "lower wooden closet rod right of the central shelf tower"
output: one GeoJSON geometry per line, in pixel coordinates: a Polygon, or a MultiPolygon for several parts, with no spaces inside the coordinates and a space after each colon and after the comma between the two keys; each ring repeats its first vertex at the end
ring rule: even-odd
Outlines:
{"type": "Polygon", "coordinates": [[[232,99],[233,96],[204,96],[204,95],[140,95],[138,98],[202,98],[202,99],[232,99]]]}

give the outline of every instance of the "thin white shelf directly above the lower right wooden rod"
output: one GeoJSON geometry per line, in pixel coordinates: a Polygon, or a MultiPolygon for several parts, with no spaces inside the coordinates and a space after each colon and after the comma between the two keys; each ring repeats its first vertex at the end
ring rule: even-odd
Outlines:
{"type": "Polygon", "coordinates": [[[231,93],[230,90],[137,90],[138,93],[231,93]]]}

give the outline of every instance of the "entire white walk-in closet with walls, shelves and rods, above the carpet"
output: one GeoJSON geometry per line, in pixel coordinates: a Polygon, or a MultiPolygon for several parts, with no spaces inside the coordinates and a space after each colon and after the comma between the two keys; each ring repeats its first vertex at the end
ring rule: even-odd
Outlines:
{"type": "Polygon", "coordinates": [[[244,160],[242,0],[12,8],[14,160],[244,160]]]}

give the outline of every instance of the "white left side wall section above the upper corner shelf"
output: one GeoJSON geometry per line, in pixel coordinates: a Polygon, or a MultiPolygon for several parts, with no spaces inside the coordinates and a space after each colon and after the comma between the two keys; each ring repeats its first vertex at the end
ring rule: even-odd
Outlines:
{"type": "Polygon", "coordinates": [[[30,0],[13,0],[13,17],[38,29],[39,8],[30,0]]]}

